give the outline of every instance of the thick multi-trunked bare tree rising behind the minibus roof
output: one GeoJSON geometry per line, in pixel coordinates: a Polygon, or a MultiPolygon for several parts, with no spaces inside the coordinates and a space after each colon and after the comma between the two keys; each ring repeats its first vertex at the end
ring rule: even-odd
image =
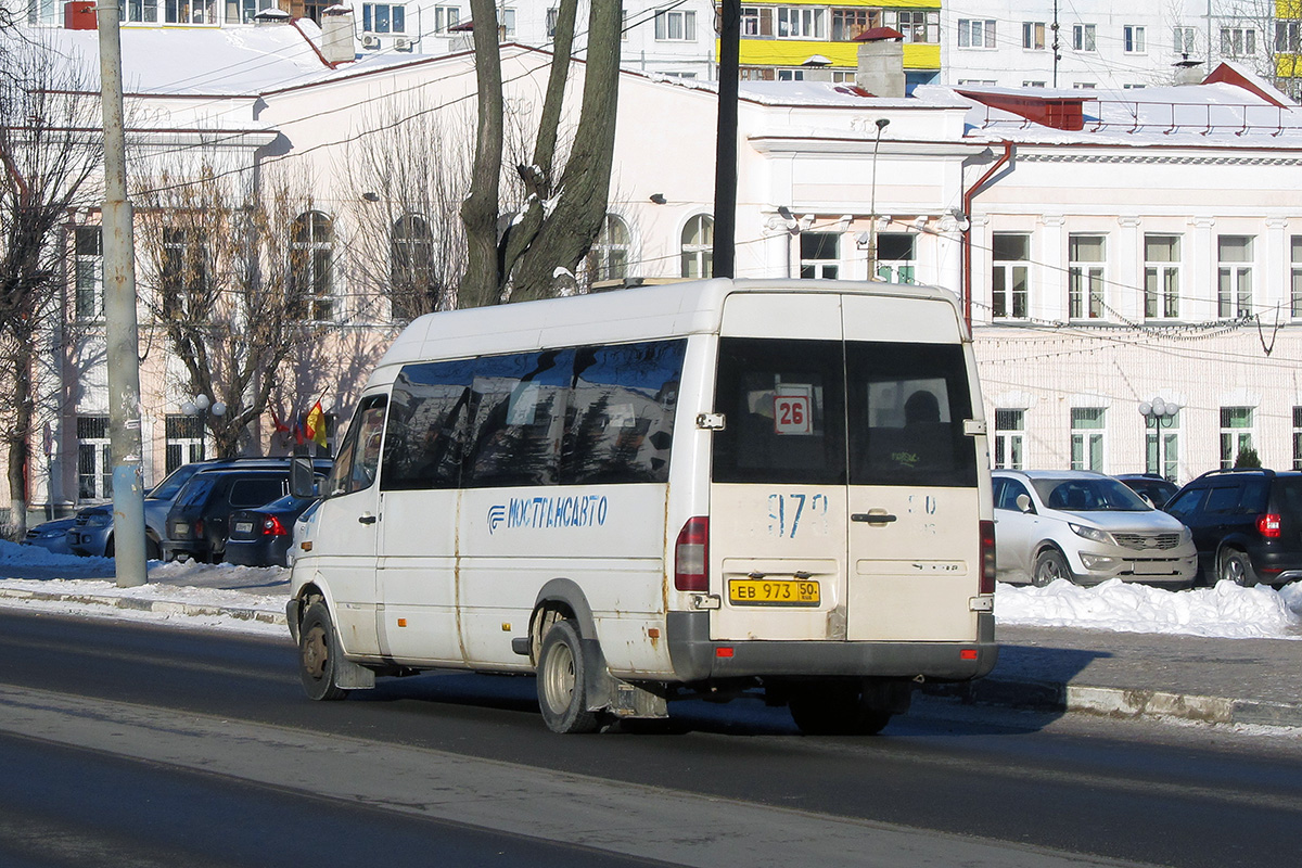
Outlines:
{"type": "Polygon", "coordinates": [[[461,208],[469,254],[462,306],[553,294],[555,275],[573,275],[600,232],[615,151],[621,7],[618,1],[591,4],[582,108],[561,169],[556,151],[578,9],[578,0],[561,0],[533,160],[517,167],[529,197],[503,228],[505,124],[496,3],[471,0],[478,130],[470,194],[461,208]]]}

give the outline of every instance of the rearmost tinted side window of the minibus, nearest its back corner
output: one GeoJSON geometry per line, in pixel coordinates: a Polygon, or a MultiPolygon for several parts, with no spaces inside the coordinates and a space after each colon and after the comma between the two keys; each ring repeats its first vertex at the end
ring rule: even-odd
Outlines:
{"type": "Polygon", "coordinates": [[[664,483],[686,341],[582,347],[561,445],[561,484],[664,483]]]}

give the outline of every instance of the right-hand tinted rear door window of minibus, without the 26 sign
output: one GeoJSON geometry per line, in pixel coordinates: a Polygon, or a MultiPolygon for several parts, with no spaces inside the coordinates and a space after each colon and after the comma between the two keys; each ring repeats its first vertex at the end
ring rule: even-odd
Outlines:
{"type": "Polygon", "coordinates": [[[976,485],[957,344],[846,344],[852,485],[976,485]]]}

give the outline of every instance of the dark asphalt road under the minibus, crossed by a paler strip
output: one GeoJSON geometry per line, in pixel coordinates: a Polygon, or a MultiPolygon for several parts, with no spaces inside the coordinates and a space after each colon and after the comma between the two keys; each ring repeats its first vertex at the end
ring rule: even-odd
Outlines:
{"type": "Polygon", "coordinates": [[[533,691],[310,703],[288,642],[0,612],[0,865],[1302,864],[1280,737],[960,709],[820,739],[751,701],[557,737],[533,691]]]}

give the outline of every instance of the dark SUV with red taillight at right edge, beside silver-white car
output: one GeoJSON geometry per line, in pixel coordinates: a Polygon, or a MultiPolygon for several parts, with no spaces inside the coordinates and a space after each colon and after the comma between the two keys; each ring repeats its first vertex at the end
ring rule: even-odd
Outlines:
{"type": "Polygon", "coordinates": [[[1302,472],[1213,470],[1180,489],[1165,510],[1189,526],[1210,583],[1302,579],[1302,472]]]}

